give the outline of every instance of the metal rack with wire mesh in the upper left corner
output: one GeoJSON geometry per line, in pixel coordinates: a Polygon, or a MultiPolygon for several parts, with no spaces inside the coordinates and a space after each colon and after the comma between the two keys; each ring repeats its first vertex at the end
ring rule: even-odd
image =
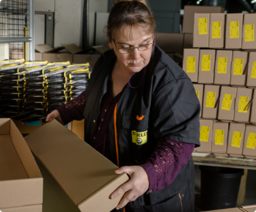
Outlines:
{"type": "Polygon", "coordinates": [[[34,0],[0,1],[0,43],[13,57],[34,60],[34,0]]]}

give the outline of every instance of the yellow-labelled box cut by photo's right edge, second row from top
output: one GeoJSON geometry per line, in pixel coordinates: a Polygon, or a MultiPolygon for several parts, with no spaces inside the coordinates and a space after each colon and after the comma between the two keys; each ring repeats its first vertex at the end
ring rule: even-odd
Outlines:
{"type": "Polygon", "coordinates": [[[246,86],[256,87],[256,52],[249,53],[246,86]]]}

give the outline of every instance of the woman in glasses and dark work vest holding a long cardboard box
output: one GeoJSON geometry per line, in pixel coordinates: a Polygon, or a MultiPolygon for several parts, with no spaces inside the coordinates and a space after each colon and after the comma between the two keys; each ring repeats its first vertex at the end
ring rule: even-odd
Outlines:
{"type": "Polygon", "coordinates": [[[85,119],[85,141],[130,181],[118,211],[194,211],[200,104],[185,72],[155,45],[145,0],[115,2],[107,22],[112,50],[95,64],[89,87],[47,121],[85,119]]]}

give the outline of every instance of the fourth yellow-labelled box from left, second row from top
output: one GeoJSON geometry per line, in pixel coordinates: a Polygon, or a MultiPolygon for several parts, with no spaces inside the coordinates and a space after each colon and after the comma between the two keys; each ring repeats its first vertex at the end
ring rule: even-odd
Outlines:
{"type": "Polygon", "coordinates": [[[230,84],[245,86],[248,69],[248,52],[233,51],[230,84]]]}

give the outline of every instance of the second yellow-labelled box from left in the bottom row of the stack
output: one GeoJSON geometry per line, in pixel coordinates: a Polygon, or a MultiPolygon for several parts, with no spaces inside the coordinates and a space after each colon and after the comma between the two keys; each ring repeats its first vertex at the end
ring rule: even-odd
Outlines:
{"type": "Polygon", "coordinates": [[[211,152],[228,156],[228,154],[226,154],[228,146],[228,129],[228,122],[221,122],[219,120],[213,121],[213,142],[211,145],[211,152]]]}

